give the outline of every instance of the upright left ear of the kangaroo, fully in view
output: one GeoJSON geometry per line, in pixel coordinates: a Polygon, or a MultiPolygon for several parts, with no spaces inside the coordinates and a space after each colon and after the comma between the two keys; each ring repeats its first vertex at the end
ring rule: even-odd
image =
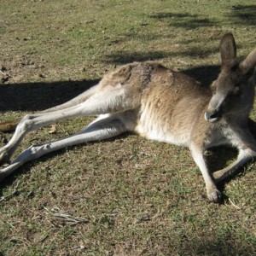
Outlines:
{"type": "Polygon", "coordinates": [[[227,65],[230,61],[236,60],[236,42],[231,33],[226,33],[221,38],[219,51],[222,66],[227,65]]]}

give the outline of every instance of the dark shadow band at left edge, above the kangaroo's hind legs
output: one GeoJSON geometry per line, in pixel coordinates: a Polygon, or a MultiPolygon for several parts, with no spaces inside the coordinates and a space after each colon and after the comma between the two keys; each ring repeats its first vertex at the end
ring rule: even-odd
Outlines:
{"type": "Polygon", "coordinates": [[[0,84],[0,111],[39,111],[67,102],[98,80],[0,84]]]}

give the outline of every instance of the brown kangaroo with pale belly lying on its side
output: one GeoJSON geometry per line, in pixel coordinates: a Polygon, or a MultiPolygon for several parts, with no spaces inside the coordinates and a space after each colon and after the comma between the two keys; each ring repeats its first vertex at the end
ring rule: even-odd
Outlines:
{"type": "Polygon", "coordinates": [[[256,49],[244,61],[237,61],[235,39],[227,33],[221,39],[220,54],[222,69],[211,89],[160,64],[134,62],[108,73],[99,84],[67,103],[26,115],[9,143],[0,149],[0,179],[60,148],[134,131],[148,139],[189,147],[204,177],[209,201],[218,202],[221,193],[215,182],[230,176],[256,155],[256,142],[247,127],[256,83],[256,49]],[[78,134],[33,145],[6,165],[27,132],[87,115],[100,116],[78,134]],[[237,160],[212,176],[204,151],[223,144],[238,149],[237,160]]]}

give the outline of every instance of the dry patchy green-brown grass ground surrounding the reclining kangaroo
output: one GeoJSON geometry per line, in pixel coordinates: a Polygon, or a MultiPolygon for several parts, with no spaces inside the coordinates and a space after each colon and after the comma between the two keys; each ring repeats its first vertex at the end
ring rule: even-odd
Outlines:
{"type": "MultiPolygon", "coordinates": [[[[249,0],[3,0],[0,119],[67,101],[131,61],[160,61],[209,84],[224,32],[234,33],[239,55],[255,47],[255,9],[249,0]]],[[[90,120],[32,132],[21,148],[90,120]]],[[[225,156],[234,154],[213,151],[213,169],[225,156]]],[[[226,183],[224,203],[214,205],[187,148],[134,135],[66,148],[1,183],[1,196],[16,192],[0,202],[0,254],[255,255],[254,171],[249,164],[226,183]],[[55,207],[89,222],[69,225],[49,215],[55,207]]]]}

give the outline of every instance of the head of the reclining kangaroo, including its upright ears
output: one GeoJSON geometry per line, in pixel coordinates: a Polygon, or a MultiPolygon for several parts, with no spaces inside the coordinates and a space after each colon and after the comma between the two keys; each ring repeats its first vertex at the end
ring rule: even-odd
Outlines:
{"type": "Polygon", "coordinates": [[[236,59],[236,42],[231,33],[220,41],[221,72],[212,83],[212,98],[205,119],[219,119],[242,115],[247,118],[253,106],[254,84],[256,83],[256,49],[239,62],[236,59]]]}

